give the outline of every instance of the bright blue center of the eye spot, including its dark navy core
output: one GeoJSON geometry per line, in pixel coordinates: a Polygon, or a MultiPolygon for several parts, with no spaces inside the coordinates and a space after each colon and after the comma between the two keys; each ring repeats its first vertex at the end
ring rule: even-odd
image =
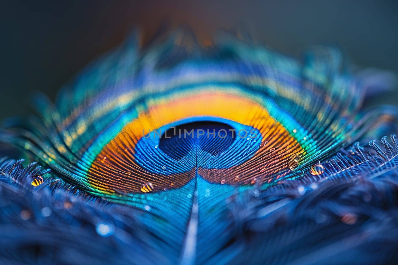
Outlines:
{"type": "Polygon", "coordinates": [[[218,117],[187,118],[145,134],[135,159],[145,170],[164,175],[241,164],[253,157],[262,139],[252,126],[218,117]]]}

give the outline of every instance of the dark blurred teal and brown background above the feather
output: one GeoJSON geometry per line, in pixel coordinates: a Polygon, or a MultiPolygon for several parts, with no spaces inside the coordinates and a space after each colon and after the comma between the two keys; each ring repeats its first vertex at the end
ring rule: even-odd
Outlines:
{"type": "MultiPolygon", "coordinates": [[[[55,98],[90,60],[138,26],[189,25],[201,42],[246,24],[267,46],[299,56],[338,44],[353,62],[398,72],[398,1],[2,1],[0,119],[31,112],[34,91],[55,98]]],[[[390,93],[387,103],[398,97],[390,93]]]]}

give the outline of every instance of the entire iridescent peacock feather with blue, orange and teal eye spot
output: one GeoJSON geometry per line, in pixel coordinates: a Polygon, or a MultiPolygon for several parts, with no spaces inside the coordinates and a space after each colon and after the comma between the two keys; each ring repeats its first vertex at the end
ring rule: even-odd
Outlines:
{"type": "Polygon", "coordinates": [[[0,141],[46,168],[0,161],[4,261],[398,258],[398,144],[383,137],[397,111],[365,107],[371,87],[337,48],[297,60],[186,31],[139,43],[4,123],[0,141]]]}

